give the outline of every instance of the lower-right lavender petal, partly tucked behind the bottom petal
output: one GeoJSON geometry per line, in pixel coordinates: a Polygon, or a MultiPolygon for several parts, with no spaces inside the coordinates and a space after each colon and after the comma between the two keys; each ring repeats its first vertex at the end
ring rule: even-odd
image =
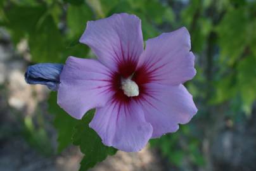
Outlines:
{"type": "Polygon", "coordinates": [[[147,94],[139,100],[146,121],[153,127],[152,137],[176,132],[178,124],[186,124],[197,108],[184,85],[146,84],[147,94]]]}

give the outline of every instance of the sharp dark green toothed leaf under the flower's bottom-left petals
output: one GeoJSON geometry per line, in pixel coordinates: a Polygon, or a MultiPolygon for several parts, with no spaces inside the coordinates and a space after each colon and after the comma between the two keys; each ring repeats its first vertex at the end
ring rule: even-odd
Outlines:
{"type": "Polygon", "coordinates": [[[105,146],[98,134],[89,128],[93,115],[94,110],[88,111],[74,130],[73,143],[80,146],[80,150],[85,155],[80,162],[80,171],[93,167],[96,163],[105,160],[108,155],[117,152],[117,149],[105,146]]]}

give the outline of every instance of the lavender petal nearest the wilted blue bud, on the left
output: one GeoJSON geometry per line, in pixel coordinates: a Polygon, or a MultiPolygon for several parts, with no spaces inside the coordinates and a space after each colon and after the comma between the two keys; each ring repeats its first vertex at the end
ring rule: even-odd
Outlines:
{"type": "Polygon", "coordinates": [[[69,57],[60,75],[58,105],[72,117],[82,118],[110,99],[110,77],[110,70],[99,61],[69,57]]]}

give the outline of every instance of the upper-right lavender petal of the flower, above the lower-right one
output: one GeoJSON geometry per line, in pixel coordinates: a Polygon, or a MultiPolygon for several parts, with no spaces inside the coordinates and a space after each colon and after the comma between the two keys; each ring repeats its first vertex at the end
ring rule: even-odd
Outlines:
{"type": "Polygon", "coordinates": [[[195,56],[189,52],[190,49],[190,36],[185,27],[161,34],[146,41],[138,70],[143,68],[151,80],[159,84],[182,84],[196,74],[195,56]]]}

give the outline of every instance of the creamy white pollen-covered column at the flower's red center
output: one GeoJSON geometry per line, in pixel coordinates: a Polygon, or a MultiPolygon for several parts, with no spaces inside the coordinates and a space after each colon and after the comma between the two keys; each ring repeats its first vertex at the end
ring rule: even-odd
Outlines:
{"type": "Polygon", "coordinates": [[[130,77],[121,80],[122,90],[128,97],[139,96],[139,87],[130,77]]]}

